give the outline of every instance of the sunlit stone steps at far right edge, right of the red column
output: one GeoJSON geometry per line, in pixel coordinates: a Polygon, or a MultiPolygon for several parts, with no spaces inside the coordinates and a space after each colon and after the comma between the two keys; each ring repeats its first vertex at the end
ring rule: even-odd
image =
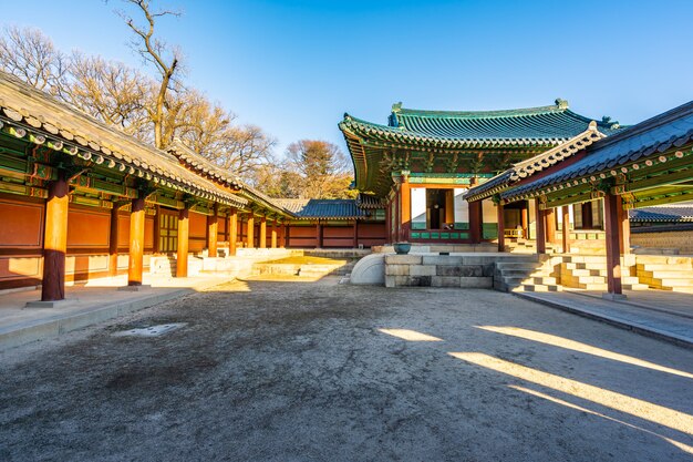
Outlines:
{"type": "Polygon", "coordinates": [[[693,266],[689,258],[650,256],[635,265],[635,271],[641,283],[654,289],[693,294],[693,266]]]}

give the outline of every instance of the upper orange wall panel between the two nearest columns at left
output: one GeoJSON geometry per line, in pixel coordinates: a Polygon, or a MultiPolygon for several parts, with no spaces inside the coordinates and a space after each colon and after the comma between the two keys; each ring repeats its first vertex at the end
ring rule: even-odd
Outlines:
{"type": "Polygon", "coordinates": [[[111,212],[73,208],[68,212],[68,248],[108,247],[111,212]]]}

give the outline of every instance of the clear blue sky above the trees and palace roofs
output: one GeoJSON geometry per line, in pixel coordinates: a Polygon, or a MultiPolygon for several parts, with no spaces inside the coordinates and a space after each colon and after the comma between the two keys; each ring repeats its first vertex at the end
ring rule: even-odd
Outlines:
{"type": "MultiPolygon", "coordinates": [[[[344,112],[385,123],[392,103],[494,110],[568,100],[632,124],[693,99],[693,1],[155,1],[187,81],[279,140],[345,145],[344,112]]],[[[118,0],[0,0],[64,51],[142,65],[118,0]]]]}

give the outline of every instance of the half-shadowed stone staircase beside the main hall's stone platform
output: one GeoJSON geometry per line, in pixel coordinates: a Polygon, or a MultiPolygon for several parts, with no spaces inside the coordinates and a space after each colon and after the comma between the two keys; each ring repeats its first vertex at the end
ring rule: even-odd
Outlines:
{"type": "Polygon", "coordinates": [[[500,291],[559,291],[560,285],[552,267],[534,256],[497,261],[494,288],[500,291]]]}

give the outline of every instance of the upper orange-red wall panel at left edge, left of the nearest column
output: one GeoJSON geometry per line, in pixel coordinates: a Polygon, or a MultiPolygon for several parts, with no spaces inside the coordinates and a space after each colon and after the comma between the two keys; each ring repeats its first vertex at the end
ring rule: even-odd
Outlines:
{"type": "Polygon", "coordinates": [[[0,198],[0,248],[41,249],[43,204],[0,198]]]}

